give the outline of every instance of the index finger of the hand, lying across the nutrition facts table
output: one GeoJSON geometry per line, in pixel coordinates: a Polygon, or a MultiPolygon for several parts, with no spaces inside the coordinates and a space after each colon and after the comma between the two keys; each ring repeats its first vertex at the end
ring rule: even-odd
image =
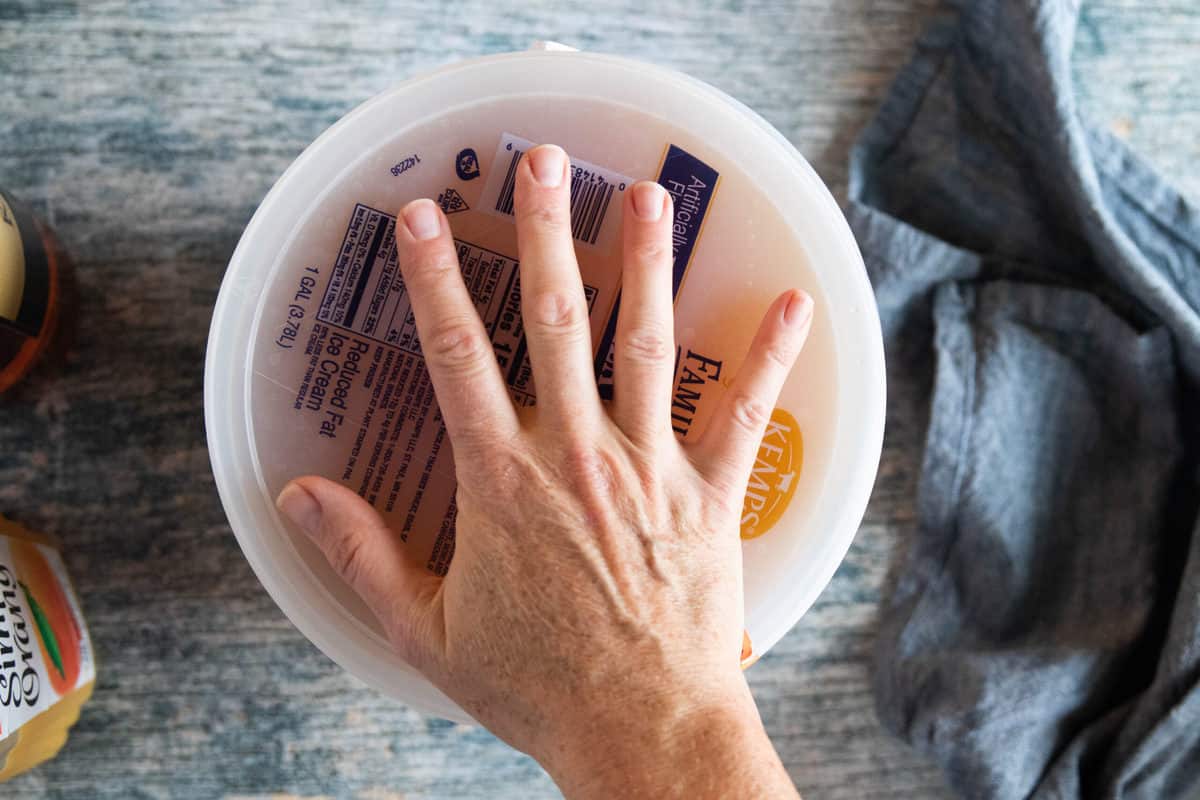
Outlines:
{"type": "Polygon", "coordinates": [[[462,281],[445,215],[427,199],[396,215],[396,251],[421,351],[456,449],[517,432],[491,339],[462,281]]]}

